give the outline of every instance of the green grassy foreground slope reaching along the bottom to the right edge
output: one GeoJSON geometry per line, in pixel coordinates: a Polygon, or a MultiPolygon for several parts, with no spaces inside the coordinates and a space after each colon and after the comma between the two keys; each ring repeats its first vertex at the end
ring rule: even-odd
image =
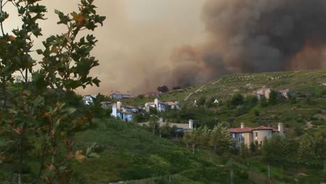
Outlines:
{"type": "Polygon", "coordinates": [[[231,166],[235,183],[323,180],[320,167],[298,168],[295,164],[276,163],[270,165],[272,179],[267,179],[267,163],[260,158],[251,158],[250,167],[247,167],[247,162],[233,155],[222,157],[205,149],[192,155],[180,142],[153,135],[133,123],[112,119],[75,137],[79,149],[93,143],[100,146],[100,158],[72,164],[81,183],[169,183],[169,180],[171,183],[228,183],[231,166]]]}

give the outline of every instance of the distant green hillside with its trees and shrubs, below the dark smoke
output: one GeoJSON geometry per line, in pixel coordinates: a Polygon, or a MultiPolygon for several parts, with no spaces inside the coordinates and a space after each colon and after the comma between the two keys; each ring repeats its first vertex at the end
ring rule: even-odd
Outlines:
{"type": "MultiPolygon", "coordinates": [[[[178,101],[183,105],[180,113],[164,113],[160,116],[169,121],[187,123],[189,118],[199,120],[202,125],[227,121],[233,126],[246,123],[251,127],[258,125],[275,126],[281,122],[289,130],[326,130],[326,69],[295,72],[266,72],[255,74],[224,75],[218,79],[182,89],[174,93],[164,93],[163,101],[178,101]],[[247,109],[229,109],[228,100],[236,93],[244,96],[261,89],[263,85],[273,90],[292,89],[297,93],[295,100],[279,100],[276,105],[254,105],[247,109]],[[299,98],[304,97],[304,98],[299,98]],[[309,97],[309,98],[306,98],[309,97]],[[204,98],[203,107],[194,107],[204,98]],[[219,105],[211,107],[207,103],[219,100],[219,105]],[[243,111],[243,112],[242,112],[243,111]]],[[[131,98],[123,100],[125,105],[143,105],[154,98],[131,98]]],[[[292,132],[290,131],[290,134],[292,132]]]]}

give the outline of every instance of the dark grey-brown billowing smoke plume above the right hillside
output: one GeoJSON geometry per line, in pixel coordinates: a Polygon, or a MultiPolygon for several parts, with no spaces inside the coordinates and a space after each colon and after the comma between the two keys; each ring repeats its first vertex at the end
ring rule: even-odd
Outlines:
{"type": "Polygon", "coordinates": [[[173,52],[174,84],[326,67],[325,0],[207,0],[202,20],[207,41],[173,52]]]}

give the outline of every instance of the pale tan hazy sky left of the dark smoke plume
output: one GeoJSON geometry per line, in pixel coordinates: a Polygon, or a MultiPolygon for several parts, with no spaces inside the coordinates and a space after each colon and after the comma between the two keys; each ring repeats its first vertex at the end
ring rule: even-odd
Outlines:
{"type": "MultiPolygon", "coordinates": [[[[40,3],[48,9],[48,20],[40,22],[44,35],[41,39],[45,39],[64,29],[56,24],[54,9],[69,13],[77,10],[79,1],[43,0],[40,3]]],[[[107,17],[104,26],[95,30],[99,42],[93,55],[100,66],[91,72],[102,82],[100,88],[78,90],[80,94],[155,90],[165,82],[160,70],[171,67],[173,49],[201,40],[203,0],[95,0],[95,5],[98,13],[107,17]],[[146,76],[156,72],[158,83],[146,84],[146,76]]],[[[13,29],[17,26],[17,17],[12,15],[5,26],[7,31],[13,29]]],[[[41,47],[40,42],[36,47],[41,47]]]]}

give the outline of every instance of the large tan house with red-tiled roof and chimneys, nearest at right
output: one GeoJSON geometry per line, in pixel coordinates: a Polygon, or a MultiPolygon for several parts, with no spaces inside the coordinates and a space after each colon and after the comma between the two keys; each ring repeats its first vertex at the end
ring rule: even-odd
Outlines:
{"type": "Polygon", "coordinates": [[[241,123],[240,128],[230,128],[228,132],[231,133],[233,138],[233,145],[238,148],[243,142],[248,147],[252,142],[257,142],[259,145],[264,144],[265,138],[270,138],[274,133],[284,135],[283,123],[278,124],[278,129],[274,129],[266,126],[259,126],[257,128],[244,127],[244,123],[241,123]]]}

